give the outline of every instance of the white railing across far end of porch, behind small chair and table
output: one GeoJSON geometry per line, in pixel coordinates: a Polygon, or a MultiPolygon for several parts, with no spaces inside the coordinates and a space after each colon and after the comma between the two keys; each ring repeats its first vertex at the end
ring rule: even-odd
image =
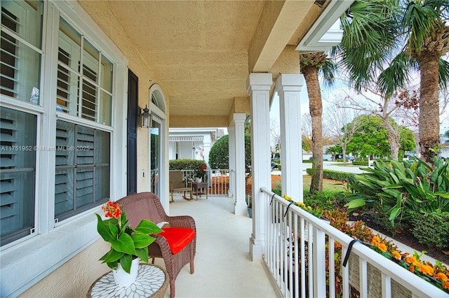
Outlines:
{"type": "MultiPolygon", "coordinates": [[[[181,170],[182,177],[185,180],[186,186],[190,182],[195,181],[195,170],[181,170]]],[[[213,194],[228,194],[229,190],[229,170],[228,169],[206,169],[204,175],[199,177],[203,182],[208,183],[209,195],[213,194]]]]}

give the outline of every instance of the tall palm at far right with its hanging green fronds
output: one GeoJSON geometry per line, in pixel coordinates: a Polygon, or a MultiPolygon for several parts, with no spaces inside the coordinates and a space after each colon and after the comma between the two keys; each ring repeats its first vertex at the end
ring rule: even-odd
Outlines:
{"type": "Polygon", "coordinates": [[[449,50],[448,6],[448,0],[356,1],[342,16],[344,36],[355,37],[338,48],[357,90],[375,83],[391,97],[412,71],[420,72],[419,143],[429,164],[439,145],[438,85],[446,88],[449,80],[449,62],[441,59],[449,50]],[[376,26],[382,39],[372,38],[373,31],[358,21],[373,2],[382,2],[386,12],[376,26]],[[371,55],[373,48],[380,49],[377,55],[371,55]]]}

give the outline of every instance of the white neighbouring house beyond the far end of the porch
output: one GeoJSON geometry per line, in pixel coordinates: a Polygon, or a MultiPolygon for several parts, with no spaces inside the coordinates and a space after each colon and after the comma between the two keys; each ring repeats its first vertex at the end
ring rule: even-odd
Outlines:
{"type": "Polygon", "coordinates": [[[218,128],[170,128],[168,159],[203,159],[209,162],[209,152],[224,135],[218,128]]]}

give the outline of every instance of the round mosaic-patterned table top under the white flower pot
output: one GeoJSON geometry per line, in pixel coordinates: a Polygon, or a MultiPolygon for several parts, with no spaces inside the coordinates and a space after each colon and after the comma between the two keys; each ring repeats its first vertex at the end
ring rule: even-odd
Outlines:
{"type": "Polygon", "coordinates": [[[140,264],[138,278],[128,287],[117,287],[112,271],[93,283],[90,297],[163,297],[168,288],[166,271],[152,264],[140,264]]]}

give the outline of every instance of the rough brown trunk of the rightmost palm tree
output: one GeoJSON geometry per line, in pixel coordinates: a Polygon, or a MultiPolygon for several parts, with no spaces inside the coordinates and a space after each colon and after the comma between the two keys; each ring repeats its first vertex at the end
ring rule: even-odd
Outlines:
{"type": "Polygon", "coordinates": [[[420,63],[420,147],[421,158],[434,166],[440,144],[440,109],[438,101],[438,61],[435,52],[422,52],[420,63]]]}

